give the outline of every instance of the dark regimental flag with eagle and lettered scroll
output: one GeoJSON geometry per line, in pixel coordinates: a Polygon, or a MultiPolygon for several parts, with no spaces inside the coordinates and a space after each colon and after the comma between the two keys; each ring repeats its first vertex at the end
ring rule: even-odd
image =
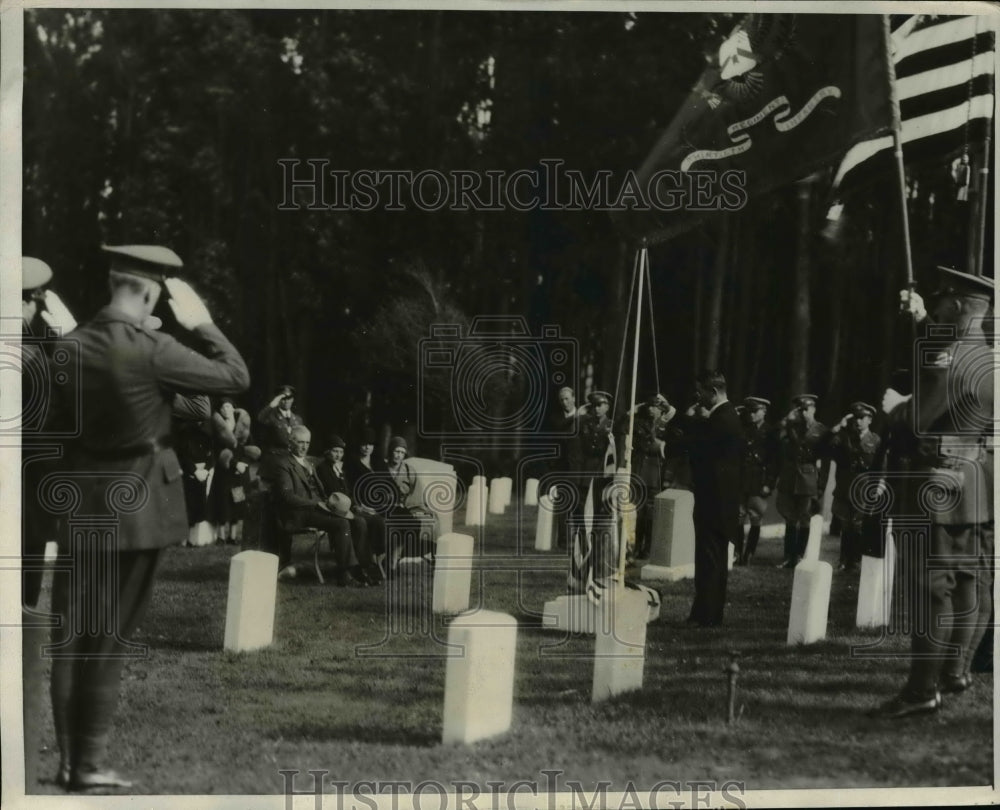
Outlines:
{"type": "MultiPolygon", "coordinates": [[[[750,14],[709,67],[637,173],[642,189],[667,173],[745,173],[749,197],[836,165],[891,129],[888,48],[877,14],[750,14]]],[[[690,201],[689,201],[690,203],[690,201]]],[[[655,203],[650,206],[656,208],[655,203]]],[[[705,211],[619,212],[620,227],[655,242],[705,211]]]]}

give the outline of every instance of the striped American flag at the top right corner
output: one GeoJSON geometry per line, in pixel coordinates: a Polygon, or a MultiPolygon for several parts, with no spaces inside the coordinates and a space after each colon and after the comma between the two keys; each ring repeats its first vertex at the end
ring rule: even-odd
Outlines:
{"type": "MultiPolygon", "coordinates": [[[[892,34],[892,60],[907,163],[946,160],[985,140],[993,120],[996,16],[910,17],[892,34]]],[[[892,167],[892,135],[853,146],[834,187],[892,167]]]]}

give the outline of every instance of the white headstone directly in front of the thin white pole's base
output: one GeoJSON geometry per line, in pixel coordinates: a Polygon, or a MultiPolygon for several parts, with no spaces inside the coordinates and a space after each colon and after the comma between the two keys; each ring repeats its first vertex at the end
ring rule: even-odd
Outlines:
{"type": "Polygon", "coordinates": [[[591,701],[642,688],[646,660],[646,597],[631,588],[609,588],[598,610],[591,701]]]}

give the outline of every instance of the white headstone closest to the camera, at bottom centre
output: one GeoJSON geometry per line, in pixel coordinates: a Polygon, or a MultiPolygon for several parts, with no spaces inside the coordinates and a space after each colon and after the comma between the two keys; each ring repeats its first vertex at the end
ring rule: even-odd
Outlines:
{"type": "Polygon", "coordinates": [[[448,628],[448,644],[441,741],[503,734],[513,714],[517,620],[489,610],[462,614],[448,628]]]}

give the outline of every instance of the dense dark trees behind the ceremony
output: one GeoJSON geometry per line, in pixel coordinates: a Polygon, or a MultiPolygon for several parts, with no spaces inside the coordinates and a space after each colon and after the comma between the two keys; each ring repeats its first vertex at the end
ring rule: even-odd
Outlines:
{"type": "MultiPolygon", "coordinates": [[[[560,325],[579,341],[578,389],[614,391],[634,245],[606,213],[279,210],[278,161],[514,171],[555,158],[585,176],[622,172],[732,24],[727,14],[29,11],[24,253],[55,268],[56,288],[86,317],[105,297],[101,243],[173,247],[251,366],[247,405],[291,382],[320,435],[370,423],[412,436],[418,339],[479,314],[524,316],[534,334],[560,325]]],[[[945,157],[911,168],[921,278],[965,257],[968,203],[945,157]]],[[[892,182],[871,178],[836,226],[819,176],[654,246],[664,393],[686,399],[695,369],[716,365],[736,396],[783,407],[805,387],[829,419],[877,399],[902,362],[892,182]]],[[[640,394],[656,371],[646,339],[640,394]]],[[[523,380],[493,382],[498,403],[523,396],[523,380]]],[[[426,393],[447,410],[445,384],[426,393]]]]}

